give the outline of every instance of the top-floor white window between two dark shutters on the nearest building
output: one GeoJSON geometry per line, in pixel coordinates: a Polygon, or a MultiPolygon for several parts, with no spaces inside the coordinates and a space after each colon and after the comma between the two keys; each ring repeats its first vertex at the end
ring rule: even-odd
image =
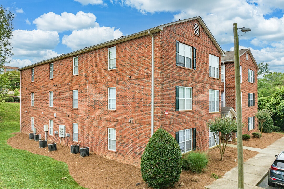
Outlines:
{"type": "Polygon", "coordinates": [[[179,65],[184,64],[184,67],[192,69],[192,47],[179,42],[179,65]],[[184,60],[184,62],[180,62],[184,60]]]}

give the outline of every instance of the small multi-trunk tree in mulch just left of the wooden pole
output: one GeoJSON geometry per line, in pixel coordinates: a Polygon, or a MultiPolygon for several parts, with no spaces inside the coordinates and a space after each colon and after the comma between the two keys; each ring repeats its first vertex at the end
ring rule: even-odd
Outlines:
{"type": "Polygon", "coordinates": [[[228,140],[232,137],[233,133],[237,132],[237,123],[231,118],[215,117],[206,124],[210,131],[213,132],[215,143],[220,150],[220,161],[222,161],[228,140]],[[216,142],[216,137],[219,137],[219,144],[216,142]]]}

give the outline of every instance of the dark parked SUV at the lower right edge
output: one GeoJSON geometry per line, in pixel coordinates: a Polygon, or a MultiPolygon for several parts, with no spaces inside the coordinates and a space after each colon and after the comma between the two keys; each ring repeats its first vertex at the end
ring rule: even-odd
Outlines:
{"type": "Polygon", "coordinates": [[[276,183],[284,186],[284,152],[280,152],[275,157],[268,171],[268,185],[274,186],[276,183]]]}

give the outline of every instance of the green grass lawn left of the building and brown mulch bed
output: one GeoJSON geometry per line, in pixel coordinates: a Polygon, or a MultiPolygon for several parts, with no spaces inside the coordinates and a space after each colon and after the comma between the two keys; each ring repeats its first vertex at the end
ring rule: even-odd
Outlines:
{"type": "Polygon", "coordinates": [[[7,145],[10,133],[20,131],[20,103],[0,103],[0,188],[82,189],[68,166],[47,156],[7,145]],[[62,177],[67,177],[61,180],[62,177]]]}

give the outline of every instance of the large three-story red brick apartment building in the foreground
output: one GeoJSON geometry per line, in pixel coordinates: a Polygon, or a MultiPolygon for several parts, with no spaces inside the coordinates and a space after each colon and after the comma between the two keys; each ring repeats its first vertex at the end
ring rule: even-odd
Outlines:
{"type": "Polygon", "coordinates": [[[182,153],[206,150],[206,122],[221,116],[221,56],[195,17],[20,68],[21,131],[43,136],[47,124],[53,140],[65,125],[69,144],[132,164],[158,128],[182,153]]]}

